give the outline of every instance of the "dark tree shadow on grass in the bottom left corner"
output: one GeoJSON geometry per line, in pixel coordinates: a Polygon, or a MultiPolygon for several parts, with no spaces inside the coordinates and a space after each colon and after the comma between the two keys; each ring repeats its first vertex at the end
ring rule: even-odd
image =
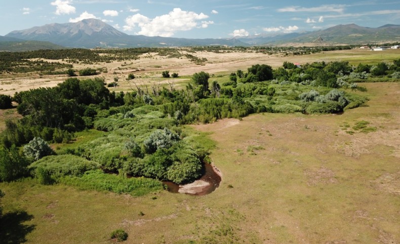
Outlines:
{"type": "Polygon", "coordinates": [[[35,225],[25,224],[33,215],[25,211],[6,213],[0,217],[0,242],[1,243],[22,243],[26,241],[26,235],[33,231],[35,225]]]}

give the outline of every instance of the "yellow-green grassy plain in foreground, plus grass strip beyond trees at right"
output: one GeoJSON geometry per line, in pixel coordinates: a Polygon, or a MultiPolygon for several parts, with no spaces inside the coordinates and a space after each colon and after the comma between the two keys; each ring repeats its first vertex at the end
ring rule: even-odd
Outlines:
{"type": "MultiPolygon", "coordinates": [[[[326,59],[392,55],[340,52],[329,52],[326,59]]],[[[324,55],[281,57],[273,66],[320,61],[324,55]]],[[[262,57],[182,70],[218,73],[271,65],[272,57],[262,57]]],[[[368,106],[342,115],[265,113],[188,126],[216,142],[211,157],[223,177],[209,195],[160,191],[133,197],[44,186],[31,179],[0,183],[7,217],[1,225],[14,230],[0,231],[0,240],[15,236],[27,243],[110,243],[111,231],[123,228],[129,234],[125,243],[398,243],[400,83],[363,86],[368,106]],[[365,134],[352,128],[362,120],[376,130],[365,134]],[[20,218],[4,222],[13,216],[20,218]]],[[[79,134],[78,141],[86,136],[79,134]]]]}

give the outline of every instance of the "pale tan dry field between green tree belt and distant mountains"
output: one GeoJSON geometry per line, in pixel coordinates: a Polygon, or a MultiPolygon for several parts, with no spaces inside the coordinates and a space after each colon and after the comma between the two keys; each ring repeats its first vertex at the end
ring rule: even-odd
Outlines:
{"type": "MultiPolygon", "coordinates": [[[[98,76],[104,77],[107,83],[111,83],[114,77],[118,77],[119,87],[115,91],[130,91],[135,89],[135,83],[141,85],[174,83],[177,88],[184,87],[190,79],[190,75],[196,72],[205,71],[210,74],[227,74],[237,69],[247,70],[254,64],[268,64],[273,68],[282,66],[284,61],[294,63],[307,63],[314,61],[349,61],[351,64],[392,62],[400,57],[400,50],[385,50],[383,52],[372,52],[369,50],[354,49],[343,51],[322,52],[311,55],[284,56],[282,54],[262,54],[256,52],[196,52],[193,54],[198,58],[207,58],[204,65],[197,65],[187,58],[166,58],[156,53],[141,55],[138,60],[124,62],[101,63],[97,65],[74,64],[75,70],[83,68],[107,68],[107,73],[98,76]],[[139,71],[136,71],[139,70],[139,71]],[[182,78],[163,78],[161,73],[169,70],[170,74],[178,73],[182,78]],[[115,72],[115,73],[114,73],[115,72]],[[129,73],[137,77],[131,82],[126,78],[129,73]]],[[[54,61],[54,60],[46,60],[54,61]]],[[[57,60],[57,62],[63,62],[57,60]]],[[[77,76],[85,79],[93,76],[77,76]]],[[[28,74],[0,74],[0,94],[13,95],[15,92],[25,91],[39,87],[54,87],[63,82],[66,75],[39,75],[36,72],[28,74]]],[[[111,89],[112,90],[112,89],[111,89]]]]}

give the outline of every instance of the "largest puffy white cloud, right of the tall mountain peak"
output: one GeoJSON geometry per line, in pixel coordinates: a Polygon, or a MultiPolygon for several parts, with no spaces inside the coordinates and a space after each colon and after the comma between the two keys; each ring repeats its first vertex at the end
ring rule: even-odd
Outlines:
{"type": "Polygon", "coordinates": [[[191,11],[183,11],[180,8],[175,8],[166,15],[156,16],[150,19],[141,14],[135,14],[125,19],[126,25],[124,30],[132,31],[135,27],[139,27],[140,31],[137,34],[147,36],[173,36],[177,31],[186,31],[193,28],[207,28],[212,21],[202,21],[208,16],[191,11]]]}

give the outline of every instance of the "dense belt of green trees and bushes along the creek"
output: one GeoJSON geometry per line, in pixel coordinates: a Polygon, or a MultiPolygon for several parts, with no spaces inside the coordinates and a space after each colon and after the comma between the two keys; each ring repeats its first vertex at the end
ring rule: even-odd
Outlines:
{"type": "MultiPolygon", "coordinates": [[[[348,62],[301,66],[284,62],[277,69],[256,64],[247,71],[232,72],[221,84],[210,84],[212,77],[202,71],[192,75],[184,90],[154,86],[151,93],[140,86],[115,93],[105,87],[102,78],[71,77],[54,88],[16,93],[12,99],[23,118],[6,121],[0,134],[4,145],[2,180],[31,174],[45,184],[77,182],[79,177],[89,177],[86,171],[100,169],[118,177],[191,182],[202,175],[202,164],[210,161],[209,151],[190,140],[182,125],[263,112],[341,113],[368,100],[359,92],[365,88],[354,80],[372,75],[397,77],[399,64],[399,60],[356,67],[348,62]],[[47,144],[73,145],[74,133],[90,129],[106,134],[75,147],[60,147],[57,155],[47,144]],[[75,178],[66,180],[71,176],[75,178]]],[[[90,176],[99,174],[93,171],[90,176]]],[[[85,184],[82,182],[69,184],[85,184]]]]}

